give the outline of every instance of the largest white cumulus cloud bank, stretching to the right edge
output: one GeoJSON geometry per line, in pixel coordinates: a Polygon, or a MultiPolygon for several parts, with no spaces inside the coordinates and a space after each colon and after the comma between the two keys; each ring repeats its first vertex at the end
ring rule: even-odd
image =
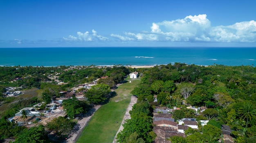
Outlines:
{"type": "Polygon", "coordinates": [[[111,34],[121,41],[181,42],[256,42],[256,22],[238,22],[229,26],[211,26],[206,14],[153,23],[150,32],[111,34]]]}

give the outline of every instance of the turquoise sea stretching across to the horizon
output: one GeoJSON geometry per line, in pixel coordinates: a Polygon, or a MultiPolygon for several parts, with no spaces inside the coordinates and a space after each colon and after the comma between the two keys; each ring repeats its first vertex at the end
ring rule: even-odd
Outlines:
{"type": "Polygon", "coordinates": [[[256,66],[256,48],[0,48],[1,66],[195,65],[256,66]]]}

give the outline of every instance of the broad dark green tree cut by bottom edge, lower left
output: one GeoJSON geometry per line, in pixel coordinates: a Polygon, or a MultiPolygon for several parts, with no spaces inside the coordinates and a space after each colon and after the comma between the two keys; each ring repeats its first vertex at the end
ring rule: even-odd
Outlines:
{"type": "Polygon", "coordinates": [[[43,125],[25,128],[13,143],[46,143],[49,142],[43,125]]]}

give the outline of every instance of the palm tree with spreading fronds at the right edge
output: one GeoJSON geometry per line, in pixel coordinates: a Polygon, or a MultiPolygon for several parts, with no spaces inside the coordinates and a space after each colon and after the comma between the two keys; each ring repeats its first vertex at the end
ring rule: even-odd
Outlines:
{"type": "Polygon", "coordinates": [[[246,127],[248,126],[248,121],[251,119],[255,119],[255,115],[256,115],[256,109],[253,106],[252,103],[250,102],[246,102],[242,108],[240,108],[240,110],[238,111],[239,114],[242,115],[243,119],[246,119],[246,127]]]}

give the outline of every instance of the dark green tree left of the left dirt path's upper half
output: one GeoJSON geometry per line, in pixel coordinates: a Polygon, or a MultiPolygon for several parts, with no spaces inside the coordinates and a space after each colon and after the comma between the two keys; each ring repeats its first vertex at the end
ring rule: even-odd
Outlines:
{"type": "Polygon", "coordinates": [[[67,117],[70,117],[70,119],[73,119],[75,115],[79,113],[83,113],[87,106],[88,105],[85,102],[79,101],[76,98],[63,100],[63,109],[66,111],[67,117]]]}

